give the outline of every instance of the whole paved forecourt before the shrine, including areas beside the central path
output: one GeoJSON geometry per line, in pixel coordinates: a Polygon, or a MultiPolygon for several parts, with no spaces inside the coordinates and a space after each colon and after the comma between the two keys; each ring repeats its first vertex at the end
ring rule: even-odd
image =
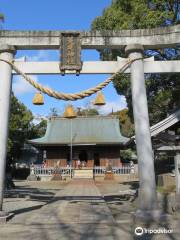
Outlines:
{"type": "Polygon", "coordinates": [[[134,223],[134,203],[119,195],[132,185],[92,180],[38,184],[19,186],[5,199],[4,208],[15,216],[0,225],[0,240],[180,239],[178,217],[158,225],[173,225],[172,235],[134,235],[135,226],[151,226],[134,223]]]}

